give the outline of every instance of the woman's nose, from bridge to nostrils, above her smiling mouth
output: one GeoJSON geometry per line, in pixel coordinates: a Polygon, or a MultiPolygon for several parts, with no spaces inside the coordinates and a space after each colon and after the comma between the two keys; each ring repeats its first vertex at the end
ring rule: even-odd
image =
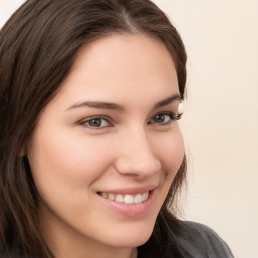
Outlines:
{"type": "Polygon", "coordinates": [[[131,130],[120,138],[115,168],[120,174],[150,177],[161,168],[155,151],[144,130],[131,130]]]}

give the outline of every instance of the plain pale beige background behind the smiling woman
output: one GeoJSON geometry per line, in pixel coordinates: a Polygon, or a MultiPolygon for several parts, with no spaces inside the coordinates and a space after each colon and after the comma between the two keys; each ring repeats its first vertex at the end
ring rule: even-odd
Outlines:
{"type": "MultiPolygon", "coordinates": [[[[22,0],[0,0],[0,27],[22,0]]],[[[258,258],[258,1],[154,0],[188,52],[185,219],[258,258]]]]}

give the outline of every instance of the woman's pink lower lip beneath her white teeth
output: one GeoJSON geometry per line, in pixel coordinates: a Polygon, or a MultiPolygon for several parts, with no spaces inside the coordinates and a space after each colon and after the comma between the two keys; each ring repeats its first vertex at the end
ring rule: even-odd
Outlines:
{"type": "Polygon", "coordinates": [[[119,213],[126,217],[137,217],[144,215],[150,210],[153,203],[153,192],[154,190],[151,190],[149,192],[148,199],[140,204],[117,203],[107,198],[103,198],[100,195],[98,195],[98,197],[101,199],[102,202],[104,202],[105,205],[108,206],[108,208],[112,209],[116,213],[119,213]]]}

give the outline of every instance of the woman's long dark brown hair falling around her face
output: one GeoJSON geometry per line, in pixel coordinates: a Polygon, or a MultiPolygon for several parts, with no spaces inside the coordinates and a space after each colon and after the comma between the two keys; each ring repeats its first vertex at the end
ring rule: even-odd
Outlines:
{"type": "MultiPolygon", "coordinates": [[[[78,49],[114,33],[159,38],[174,60],[184,99],[184,45],[167,16],[149,0],[28,0],[0,31],[1,257],[53,257],[38,230],[38,193],[22,153],[78,49]]],[[[173,207],[185,172],[184,158],[158,216],[151,237],[155,241],[161,223],[176,224],[173,207]]]]}

